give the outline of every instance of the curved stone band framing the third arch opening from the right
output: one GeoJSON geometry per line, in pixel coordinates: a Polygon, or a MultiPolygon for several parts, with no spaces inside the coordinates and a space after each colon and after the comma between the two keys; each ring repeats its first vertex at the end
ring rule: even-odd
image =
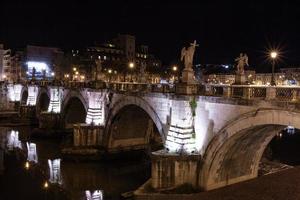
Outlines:
{"type": "MultiPolygon", "coordinates": [[[[88,111],[88,102],[86,101],[86,99],[82,96],[82,94],[79,91],[70,90],[70,91],[68,91],[65,98],[63,99],[62,109],[61,109],[61,111],[62,111],[61,116],[62,116],[62,120],[63,120],[63,124],[64,124],[65,128],[71,128],[71,126],[68,126],[68,124],[66,122],[66,120],[67,120],[66,117],[68,115],[69,106],[74,99],[77,99],[79,102],[81,102],[82,106],[84,107],[84,111],[85,111],[84,116],[77,116],[77,117],[80,117],[81,119],[86,118],[86,114],[88,111]]],[[[76,111],[76,110],[74,110],[74,111],[76,111]]],[[[83,113],[78,113],[78,114],[81,115],[83,113]]],[[[83,120],[81,120],[81,122],[83,122],[83,120]]]]}

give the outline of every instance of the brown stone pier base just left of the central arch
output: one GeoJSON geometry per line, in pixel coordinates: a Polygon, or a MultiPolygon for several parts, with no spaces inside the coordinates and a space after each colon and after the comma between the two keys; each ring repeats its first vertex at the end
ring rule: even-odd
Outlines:
{"type": "Polygon", "coordinates": [[[75,147],[103,146],[103,126],[74,124],[73,145],[75,147]]]}

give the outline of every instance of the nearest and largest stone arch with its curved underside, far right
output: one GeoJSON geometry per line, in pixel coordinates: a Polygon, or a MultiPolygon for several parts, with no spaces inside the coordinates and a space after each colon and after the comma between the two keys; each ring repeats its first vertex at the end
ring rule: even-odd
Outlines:
{"type": "Polygon", "coordinates": [[[265,148],[288,125],[300,128],[300,113],[258,109],[228,122],[205,151],[200,185],[211,190],[257,177],[265,148]]]}

